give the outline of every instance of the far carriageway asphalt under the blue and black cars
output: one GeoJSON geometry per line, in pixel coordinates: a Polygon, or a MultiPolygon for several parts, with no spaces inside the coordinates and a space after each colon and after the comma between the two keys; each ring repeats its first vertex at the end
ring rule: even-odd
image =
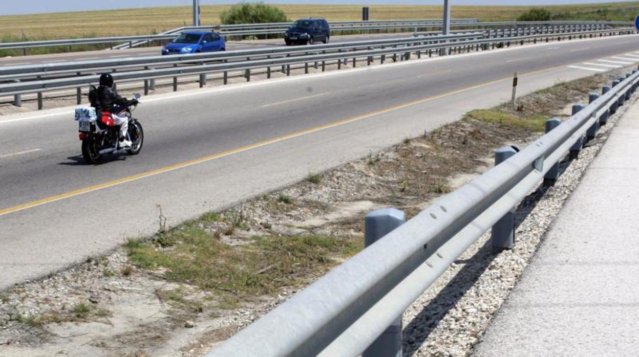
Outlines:
{"type": "MultiPolygon", "coordinates": [[[[406,38],[412,33],[387,33],[387,34],[353,34],[346,36],[333,36],[330,43],[377,40],[380,38],[406,38]]],[[[254,40],[254,41],[228,41],[227,50],[260,49],[265,47],[284,46],[284,39],[254,40]]],[[[45,54],[33,56],[0,57],[0,66],[35,65],[39,63],[58,63],[70,61],[95,61],[96,59],[116,59],[126,57],[144,57],[161,55],[161,47],[140,47],[124,50],[96,50],[85,52],[68,52],[61,54],[45,54]]]]}

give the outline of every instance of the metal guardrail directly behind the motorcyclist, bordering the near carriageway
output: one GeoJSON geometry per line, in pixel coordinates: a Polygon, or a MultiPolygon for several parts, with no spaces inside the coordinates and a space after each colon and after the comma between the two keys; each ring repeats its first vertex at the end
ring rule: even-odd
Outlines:
{"type": "MultiPolygon", "coordinates": [[[[470,49],[480,50],[480,49],[488,49],[489,45],[493,45],[495,47],[495,43],[506,43],[507,45],[511,42],[520,42],[523,44],[525,41],[535,41],[537,39],[541,40],[543,38],[554,38],[554,37],[566,37],[566,36],[574,36],[575,38],[578,35],[603,35],[605,33],[622,33],[626,31],[627,33],[636,32],[633,30],[603,30],[603,31],[589,31],[585,33],[566,33],[566,34],[536,34],[532,36],[520,36],[513,38],[491,38],[491,39],[480,39],[480,40],[458,40],[457,42],[450,42],[449,40],[442,38],[420,38],[419,42],[425,44],[413,44],[410,46],[401,46],[401,47],[384,47],[379,49],[364,49],[364,50],[340,50],[337,49],[333,52],[328,52],[328,50],[321,49],[312,49],[306,48],[298,50],[298,52],[302,52],[301,56],[291,56],[290,53],[281,52],[279,53],[279,57],[275,57],[274,54],[268,56],[262,56],[259,59],[251,59],[250,57],[246,60],[238,60],[238,61],[226,61],[217,63],[209,63],[203,65],[194,65],[194,66],[171,66],[169,68],[156,68],[156,69],[146,69],[146,70],[137,70],[131,72],[116,72],[113,73],[114,79],[118,82],[131,82],[135,80],[144,80],[145,85],[145,93],[148,92],[149,82],[148,80],[153,80],[162,77],[173,77],[173,89],[177,90],[178,81],[177,78],[185,75],[200,75],[200,86],[206,82],[206,74],[207,73],[224,73],[224,84],[227,83],[227,75],[230,71],[245,71],[245,77],[247,80],[250,80],[250,71],[256,68],[266,68],[268,77],[270,78],[271,69],[273,66],[282,66],[282,72],[290,75],[291,66],[293,65],[304,65],[305,71],[308,72],[309,63],[322,63],[322,70],[325,68],[325,64],[330,61],[337,61],[337,68],[341,68],[343,61],[348,61],[350,59],[353,60],[353,66],[357,65],[357,59],[367,59],[367,65],[371,65],[374,57],[380,57],[381,63],[384,63],[386,56],[393,56],[396,60],[399,57],[400,60],[410,59],[412,53],[415,53],[417,57],[420,57],[422,52],[426,52],[430,55],[433,50],[440,52],[442,49],[447,49],[447,52],[452,49],[466,49],[470,51],[470,49]],[[435,43],[433,43],[435,42],[435,43]],[[323,52],[323,53],[319,53],[323,52]],[[399,56],[397,56],[399,55],[399,56]],[[266,58],[264,58],[266,57],[266,58]]],[[[413,39],[414,40],[414,39],[413,39]]],[[[359,46],[359,48],[364,46],[359,46]]],[[[248,57],[248,56],[241,56],[248,57]]],[[[135,59],[132,59],[135,60],[135,59]]],[[[60,64],[63,65],[63,64],[60,64]]],[[[141,66],[141,65],[140,65],[141,66]]],[[[67,89],[67,88],[77,88],[78,91],[78,101],[81,101],[81,87],[88,86],[91,83],[97,82],[99,79],[98,75],[84,75],[70,78],[61,78],[61,79],[45,79],[45,80],[33,80],[28,82],[15,82],[11,84],[0,84],[0,96],[8,96],[15,95],[15,103],[21,103],[21,98],[19,95],[25,93],[38,93],[38,108],[42,109],[42,101],[43,96],[42,93],[45,91],[54,91],[58,89],[67,89]]]]}

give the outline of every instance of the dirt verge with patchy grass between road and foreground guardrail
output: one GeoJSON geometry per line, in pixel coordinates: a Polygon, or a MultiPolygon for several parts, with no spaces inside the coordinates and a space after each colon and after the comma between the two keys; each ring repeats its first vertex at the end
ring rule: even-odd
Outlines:
{"type": "Polygon", "coordinates": [[[356,254],[366,213],[392,206],[412,217],[489,169],[495,149],[523,148],[538,137],[540,117],[566,118],[573,103],[587,101],[619,73],[625,72],[532,93],[520,98],[519,110],[498,107],[489,120],[485,112],[469,114],[177,227],[163,225],[158,208],[155,236],[0,292],[0,355],[199,356],[356,254]],[[319,247],[309,237],[327,243],[319,247]],[[207,257],[245,255],[229,255],[240,257],[235,265],[220,260],[203,266],[212,273],[207,277],[178,271],[204,246],[217,249],[207,257]],[[273,254],[247,255],[254,247],[273,254]],[[273,260],[256,265],[242,257],[273,260]],[[227,276],[213,275],[222,269],[227,276]]]}

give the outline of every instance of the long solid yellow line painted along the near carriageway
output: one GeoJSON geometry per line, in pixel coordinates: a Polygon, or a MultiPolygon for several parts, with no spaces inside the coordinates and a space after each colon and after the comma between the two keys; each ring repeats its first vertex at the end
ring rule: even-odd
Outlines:
{"type": "MultiPolygon", "coordinates": [[[[550,70],[553,70],[553,69],[556,69],[556,68],[561,68],[561,67],[564,67],[564,66],[546,68],[545,70],[539,70],[539,71],[535,71],[535,72],[525,73],[524,75],[521,75],[520,77],[523,77],[525,75],[534,75],[534,74],[541,73],[541,72],[547,72],[547,71],[550,71],[550,70]]],[[[466,87],[466,88],[463,88],[463,89],[457,89],[455,91],[450,91],[450,92],[447,92],[447,93],[443,93],[441,95],[428,96],[426,98],[413,100],[412,102],[406,102],[406,103],[402,103],[402,104],[399,104],[399,105],[394,105],[392,107],[388,107],[386,109],[376,110],[374,112],[363,114],[361,116],[354,116],[354,117],[351,117],[351,118],[346,118],[346,119],[342,119],[342,120],[339,120],[339,121],[334,121],[333,123],[328,123],[328,124],[325,124],[325,125],[315,126],[314,128],[310,128],[310,129],[306,129],[306,130],[300,130],[299,132],[290,133],[290,134],[287,134],[287,135],[283,135],[281,137],[275,137],[273,139],[268,139],[266,141],[256,142],[255,144],[242,146],[240,148],[235,148],[235,149],[230,149],[230,150],[227,150],[227,151],[222,151],[220,153],[209,155],[209,156],[203,156],[201,158],[196,158],[196,159],[193,159],[193,160],[189,160],[187,162],[176,163],[175,165],[163,167],[161,169],[156,169],[156,170],[148,171],[148,172],[142,172],[141,174],[135,174],[133,176],[128,176],[126,178],[116,179],[116,180],[113,180],[113,181],[100,183],[98,185],[88,186],[88,187],[85,187],[85,188],[79,188],[77,190],[73,190],[73,191],[70,191],[70,192],[65,192],[64,194],[54,195],[54,196],[51,196],[51,197],[40,199],[38,201],[27,202],[25,204],[20,204],[18,206],[13,206],[13,207],[10,207],[10,208],[1,209],[0,210],[0,216],[8,215],[9,213],[15,213],[15,212],[22,211],[22,210],[28,209],[28,208],[33,208],[33,207],[36,207],[36,206],[42,206],[43,204],[56,202],[56,201],[60,201],[60,200],[63,200],[63,199],[68,199],[68,198],[73,197],[73,196],[82,195],[82,194],[88,194],[89,192],[94,192],[94,191],[97,191],[97,190],[102,190],[103,188],[109,188],[109,187],[112,187],[112,186],[121,185],[123,183],[136,181],[138,179],[149,178],[151,176],[156,176],[158,174],[164,174],[165,172],[174,171],[174,170],[178,170],[178,169],[183,169],[185,167],[196,165],[197,163],[208,162],[208,161],[211,161],[211,160],[222,158],[224,156],[229,156],[229,155],[234,155],[234,154],[237,154],[237,153],[242,153],[243,151],[249,151],[249,150],[252,150],[252,149],[262,148],[263,146],[268,146],[270,144],[275,144],[276,142],[281,142],[281,141],[286,141],[288,139],[301,137],[303,135],[319,132],[321,130],[326,130],[328,128],[334,128],[335,126],[341,126],[341,125],[345,125],[345,124],[348,124],[348,123],[353,123],[355,121],[360,121],[362,119],[371,118],[373,116],[378,116],[380,114],[386,114],[386,113],[392,112],[394,110],[399,110],[399,109],[404,109],[404,108],[407,108],[407,107],[412,107],[413,105],[417,105],[417,104],[420,104],[420,103],[431,102],[433,100],[438,100],[438,99],[441,99],[441,98],[445,98],[447,96],[452,96],[452,95],[456,95],[456,94],[463,93],[463,92],[466,92],[466,91],[471,91],[472,89],[477,89],[477,88],[481,88],[481,87],[490,86],[491,84],[497,84],[499,82],[504,82],[504,81],[507,81],[507,80],[512,80],[512,77],[505,77],[505,78],[502,78],[502,79],[491,80],[489,82],[484,82],[482,84],[477,84],[475,86],[466,87]]]]}

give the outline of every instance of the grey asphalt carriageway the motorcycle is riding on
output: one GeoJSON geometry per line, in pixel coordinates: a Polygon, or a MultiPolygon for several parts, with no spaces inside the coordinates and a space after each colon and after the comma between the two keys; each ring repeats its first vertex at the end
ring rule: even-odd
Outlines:
{"type": "Polygon", "coordinates": [[[497,105],[514,71],[523,94],[638,51],[619,36],[150,96],[141,155],[96,166],[72,108],[1,117],[0,289],[151,234],[157,205],[177,224],[497,105]]]}

